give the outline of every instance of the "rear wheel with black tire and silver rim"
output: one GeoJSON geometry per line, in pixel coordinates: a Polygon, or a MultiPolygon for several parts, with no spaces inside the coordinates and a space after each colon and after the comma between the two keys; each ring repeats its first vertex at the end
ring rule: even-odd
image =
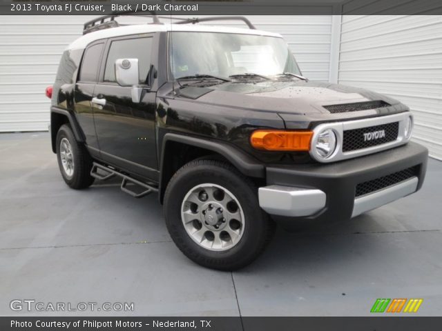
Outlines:
{"type": "Polygon", "coordinates": [[[92,159],[86,148],[77,142],[72,129],[67,124],[57,132],[57,161],[61,177],[70,188],[87,188],[94,182],[90,176],[92,159]],[[69,167],[70,160],[72,166],[69,167]]]}

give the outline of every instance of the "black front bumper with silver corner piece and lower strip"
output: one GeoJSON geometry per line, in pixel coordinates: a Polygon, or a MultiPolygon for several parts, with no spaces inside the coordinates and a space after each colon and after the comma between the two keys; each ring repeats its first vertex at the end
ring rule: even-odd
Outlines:
{"type": "Polygon", "coordinates": [[[419,190],[427,157],[426,148],[410,142],[366,157],[326,165],[269,167],[267,186],[258,191],[260,206],[273,219],[286,225],[294,219],[330,221],[356,217],[419,190]],[[358,184],[408,168],[414,169],[412,177],[356,197],[358,184]]]}

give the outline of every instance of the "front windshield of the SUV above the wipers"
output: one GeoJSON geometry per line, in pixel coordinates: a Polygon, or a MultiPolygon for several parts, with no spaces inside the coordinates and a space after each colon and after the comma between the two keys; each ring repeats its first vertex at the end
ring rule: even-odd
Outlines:
{"type": "Polygon", "coordinates": [[[194,75],[230,77],[300,74],[284,39],[253,34],[171,32],[169,65],[173,79],[194,75]]]}

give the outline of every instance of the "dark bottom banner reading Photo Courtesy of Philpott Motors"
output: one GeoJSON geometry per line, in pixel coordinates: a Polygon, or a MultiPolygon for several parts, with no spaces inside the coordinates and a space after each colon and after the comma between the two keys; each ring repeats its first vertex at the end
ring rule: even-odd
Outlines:
{"type": "Polygon", "coordinates": [[[2,331],[439,331],[442,317],[0,317],[2,331]]]}

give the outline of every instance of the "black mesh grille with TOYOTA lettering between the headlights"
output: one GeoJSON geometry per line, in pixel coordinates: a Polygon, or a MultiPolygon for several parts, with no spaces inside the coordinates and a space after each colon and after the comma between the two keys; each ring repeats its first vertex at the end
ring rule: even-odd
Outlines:
{"type": "Polygon", "coordinates": [[[372,146],[395,141],[398,137],[399,122],[369,126],[354,130],[345,130],[343,135],[343,152],[361,150],[372,146]],[[378,132],[378,133],[375,133],[378,132]]]}

